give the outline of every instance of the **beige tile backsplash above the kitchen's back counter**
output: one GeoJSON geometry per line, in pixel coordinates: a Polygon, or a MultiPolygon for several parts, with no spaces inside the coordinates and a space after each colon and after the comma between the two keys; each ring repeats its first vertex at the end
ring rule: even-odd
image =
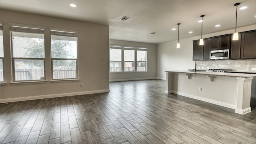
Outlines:
{"type": "Polygon", "coordinates": [[[256,60],[200,60],[196,61],[198,70],[208,69],[232,69],[242,72],[256,72],[252,68],[256,68],[256,60]],[[199,68],[200,67],[200,68],[199,68]]]}

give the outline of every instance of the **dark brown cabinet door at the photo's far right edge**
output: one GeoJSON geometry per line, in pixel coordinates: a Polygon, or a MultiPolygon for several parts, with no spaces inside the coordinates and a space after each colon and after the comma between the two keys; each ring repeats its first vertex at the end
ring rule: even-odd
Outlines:
{"type": "Polygon", "coordinates": [[[256,31],[242,33],[241,59],[256,59],[256,31]]]}

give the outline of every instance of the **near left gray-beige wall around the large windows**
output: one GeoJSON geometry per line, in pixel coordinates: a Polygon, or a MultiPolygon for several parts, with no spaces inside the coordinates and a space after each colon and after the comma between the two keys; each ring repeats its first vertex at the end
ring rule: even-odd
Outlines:
{"type": "Polygon", "coordinates": [[[6,10],[0,11],[0,21],[3,22],[5,56],[4,74],[6,82],[6,85],[1,86],[0,89],[0,102],[109,91],[109,26],[6,10]],[[10,82],[12,82],[12,68],[10,32],[8,23],[46,27],[45,68],[47,83],[10,84],[10,82]],[[78,71],[80,80],[68,82],[50,82],[51,61],[49,27],[79,31],[78,71]],[[105,61],[101,61],[101,58],[105,58],[105,61]],[[83,87],[80,87],[80,83],[83,83],[83,87]]]}

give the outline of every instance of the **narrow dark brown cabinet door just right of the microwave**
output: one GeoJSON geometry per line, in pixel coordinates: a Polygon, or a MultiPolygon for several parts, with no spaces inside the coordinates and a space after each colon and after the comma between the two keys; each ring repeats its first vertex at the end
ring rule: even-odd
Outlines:
{"type": "Polygon", "coordinates": [[[242,34],[238,34],[238,40],[232,40],[233,35],[231,36],[231,47],[230,47],[230,59],[240,59],[241,54],[241,37],[242,34]]]}

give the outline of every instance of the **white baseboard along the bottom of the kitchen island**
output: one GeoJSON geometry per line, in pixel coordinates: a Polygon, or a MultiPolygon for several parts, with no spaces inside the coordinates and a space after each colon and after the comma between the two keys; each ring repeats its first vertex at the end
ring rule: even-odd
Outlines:
{"type": "Polygon", "coordinates": [[[202,98],[200,96],[194,96],[194,95],[191,95],[191,94],[186,94],[184,92],[172,91],[172,93],[178,94],[178,95],[181,95],[181,96],[186,96],[188,98],[193,98],[193,99],[196,99],[196,100],[201,100],[201,101],[204,101],[204,102],[209,102],[211,104],[216,104],[216,105],[219,105],[219,106],[224,106],[226,108],[231,108],[231,109],[236,110],[236,105],[234,105],[234,104],[228,104],[228,103],[220,102],[220,101],[217,101],[217,100],[211,100],[209,98],[202,98]]]}

